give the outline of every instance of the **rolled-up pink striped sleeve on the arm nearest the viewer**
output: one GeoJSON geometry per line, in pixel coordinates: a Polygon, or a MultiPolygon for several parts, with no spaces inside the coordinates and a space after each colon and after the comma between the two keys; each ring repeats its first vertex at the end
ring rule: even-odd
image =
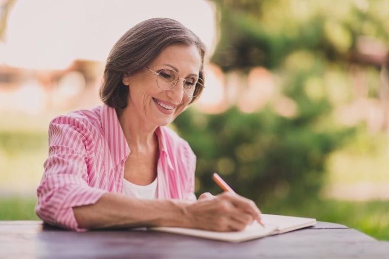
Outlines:
{"type": "Polygon", "coordinates": [[[106,192],[88,185],[91,136],[80,118],[60,116],[50,122],[49,156],[35,207],[46,223],[86,231],[79,228],[72,207],[93,204],[106,192]]]}

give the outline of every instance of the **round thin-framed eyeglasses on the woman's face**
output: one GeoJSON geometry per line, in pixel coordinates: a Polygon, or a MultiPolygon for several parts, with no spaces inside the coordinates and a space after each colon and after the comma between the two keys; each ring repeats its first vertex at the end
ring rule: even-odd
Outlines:
{"type": "Polygon", "coordinates": [[[146,68],[153,72],[155,75],[157,75],[157,85],[161,90],[168,91],[174,88],[179,79],[182,79],[184,94],[187,97],[196,97],[205,88],[203,80],[197,76],[188,76],[186,78],[180,78],[178,73],[172,69],[162,69],[157,72],[148,67],[146,68]]]}

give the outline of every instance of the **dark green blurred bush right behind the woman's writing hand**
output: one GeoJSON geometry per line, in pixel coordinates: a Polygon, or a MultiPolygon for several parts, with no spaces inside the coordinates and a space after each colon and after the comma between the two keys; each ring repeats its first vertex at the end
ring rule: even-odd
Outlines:
{"type": "Polygon", "coordinates": [[[287,119],[269,108],[251,114],[231,108],[217,115],[189,109],[175,125],[197,154],[198,194],[220,192],[211,180],[216,171],[238,193],[264,204],[300,202],[320,191],[326,158],[348,131],[315,131],[315,119],[287,119]]]}

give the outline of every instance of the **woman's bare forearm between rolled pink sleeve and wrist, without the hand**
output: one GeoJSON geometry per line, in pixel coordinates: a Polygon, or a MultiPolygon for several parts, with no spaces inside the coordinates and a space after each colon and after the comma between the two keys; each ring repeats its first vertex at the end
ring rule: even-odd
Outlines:
{"type": "Polygon", "coordinates": [[[141,226],[190,227],[187,202],[143,200],[105,193],[94,204],[73,207],[79,227],[87,229],[141,226]]]}

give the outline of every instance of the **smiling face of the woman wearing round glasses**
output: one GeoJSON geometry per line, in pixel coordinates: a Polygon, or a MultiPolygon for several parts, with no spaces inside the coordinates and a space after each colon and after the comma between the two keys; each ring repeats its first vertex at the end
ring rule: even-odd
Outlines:
{"type": "MultiPolygon", "coordinates": [[[[148,66],[156,72],[175,70],[180,78],[199,76],[202,61],[194,45],[173,44],[165,48],[148,66]]],[[[183,92],[183,82],[178,80],[174,88],[164,91],[157,85],[157,75],[148,69],[124,76],[129,87],[128,106],[135,119],[150,126],[164,126],[172,122],[191,101],[183,92]]]]}

